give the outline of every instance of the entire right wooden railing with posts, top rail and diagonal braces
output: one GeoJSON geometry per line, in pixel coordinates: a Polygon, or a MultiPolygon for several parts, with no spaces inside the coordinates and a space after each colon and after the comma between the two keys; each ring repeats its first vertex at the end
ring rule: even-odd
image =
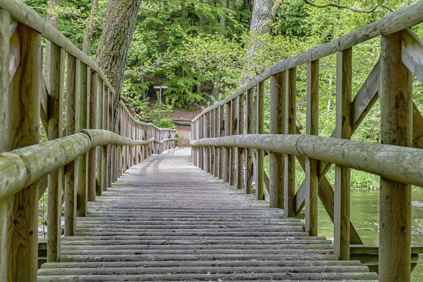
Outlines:
{"type": "Polygon", "coordinates": [[[253,177],[257,199],[283,208],[285,216],[299,216],[305,208],[305,231],[310,236],[318,231],[319,197],[334,223],[334,252],[341,260],[349,260],[350,244],[363,244],[349,220],[350,169],[380,175],[379,279],[409,281],[410,184],[423,186],[423,118],[413,104],[411,87],[413,74],[423,82],[423,42],[409,27],[420,22],[423,2],[276,63],[192,120],[194,164],[247,194],[252,193],[253,177]],[[352,47],[376,36],[382,36],[380,60],[352,100],[352,47]],[[319,59],[335,53],[336,128],[330,137],[320,137],[319,59]],[[303,64],[307,121],[306,134],[300,135],[295,93],[297,66],[303,64]],[[270,134],[263,134],[266,79],[270,79],[270,134]],[[349,140],[378,97],[382,144],[349,140]],[[270,151],[268,178],[263,150],[270,151]],[[297,192],[294,158],[305,171],[297,192]],[[332,164],[335,189],[325,177],[332,164]]]}

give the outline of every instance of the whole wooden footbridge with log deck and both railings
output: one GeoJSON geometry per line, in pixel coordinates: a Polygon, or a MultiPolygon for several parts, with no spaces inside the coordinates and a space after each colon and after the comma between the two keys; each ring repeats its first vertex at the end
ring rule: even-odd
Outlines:
{"type": "Polygon", "coordinates": [[[0,0],[0,281],[410,281],[423,252],[410,245],[411,185],[423,186],[423,118],[412,101],[423,42],[410,30],[420,22],[423,2],[275,64],[192,120],[191,150],[175,148],[175,130],[134,118],[96,63],[36,12],[0,0]],[[380,60],[352,99],[353,46],[377,36],[380,60]],[[336,129],[321,137],[319,59],[335,53],[336,129]],[[295,125],[302,64],[304,135],[295,125]],[[350,140],[377,99],[381,144],[350,140]],[[297,192],[295,158],[306,175],[297,192]],[[332,164],[335,183],[325,177],[332,164]],[[349,220],[351,168],[381,176],[379,246],[364,245],[349,220]],[[318,198],[334,244],[317,236],[318,198]]]}

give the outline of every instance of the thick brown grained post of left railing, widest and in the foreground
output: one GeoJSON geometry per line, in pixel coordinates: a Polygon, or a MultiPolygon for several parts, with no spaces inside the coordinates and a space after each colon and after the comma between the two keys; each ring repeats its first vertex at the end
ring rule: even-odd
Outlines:
{"type": "MultiPolygon", "coordinates": [[[[19,66],[11,81],[11,150],[38,143],[41,90],[41,34],[18,23],[19,66]]],[[[2,133],[3,134],[3,133],[2,133]]],[[[9,198],[6,281],[35,282],[38,266],[38,181],[9,198]]]]}

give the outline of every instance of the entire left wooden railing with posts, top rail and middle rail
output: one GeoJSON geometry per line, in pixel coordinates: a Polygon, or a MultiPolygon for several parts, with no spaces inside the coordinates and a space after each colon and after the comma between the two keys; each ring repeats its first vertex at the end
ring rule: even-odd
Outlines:
{"type": "Polygon", "coordinates": [[[63,34],[23,2],[0,0],[0,281],[36,281],[47,186],[47,261],[55,262],[62,203],[72,236],[88,201],[151,153],[175,147],[175,129],[136,120],[122,101],[113,107],[114,96],[101,68],[63,34]],[[51,42],[48,85],[41,37],[51,42]]]}

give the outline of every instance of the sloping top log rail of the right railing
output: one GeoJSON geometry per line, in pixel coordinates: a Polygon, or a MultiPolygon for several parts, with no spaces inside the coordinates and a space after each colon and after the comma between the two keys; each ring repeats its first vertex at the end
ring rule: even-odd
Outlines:
{"type": "MultiPolygon", "coordinates": [[[[2,0],[0,0],[0,3],[1,1],[2,0]]],[[[330,41],[311,50],[305,51],[299,55],[290,57],[279,63],[275,63],[269,69],[260,74],[258,77],[255,77],[255,79],[236,90],[233,94],[203,110],[203,112],[196,116],[191,122],[194,122],[206,112],[216,109],[235,99],[242,93],[247,92],[248,89],[255,87],[258,82],[268,79],[272,74],[276,74],[281,71],[286,71],[289,68],[303,65],[313,60],[317,60],[338,53],[344,49],[353,47],[354,45],[360,44],[371,38],[375,38],[380,35],[388,35],[400,30],[404,30],[407,27],[417,25],[420,22],[423,22],[423,2],[418,2],[413,5],[409,5],[405,8],[402,8],[396,12],[393,12],[383,17],[382,19],[378,19],[377,21],[371,22],[370,24],[365,25],[364,27],[360,27],[359,29],[354,30],[338,39],[330,41]]]]}

